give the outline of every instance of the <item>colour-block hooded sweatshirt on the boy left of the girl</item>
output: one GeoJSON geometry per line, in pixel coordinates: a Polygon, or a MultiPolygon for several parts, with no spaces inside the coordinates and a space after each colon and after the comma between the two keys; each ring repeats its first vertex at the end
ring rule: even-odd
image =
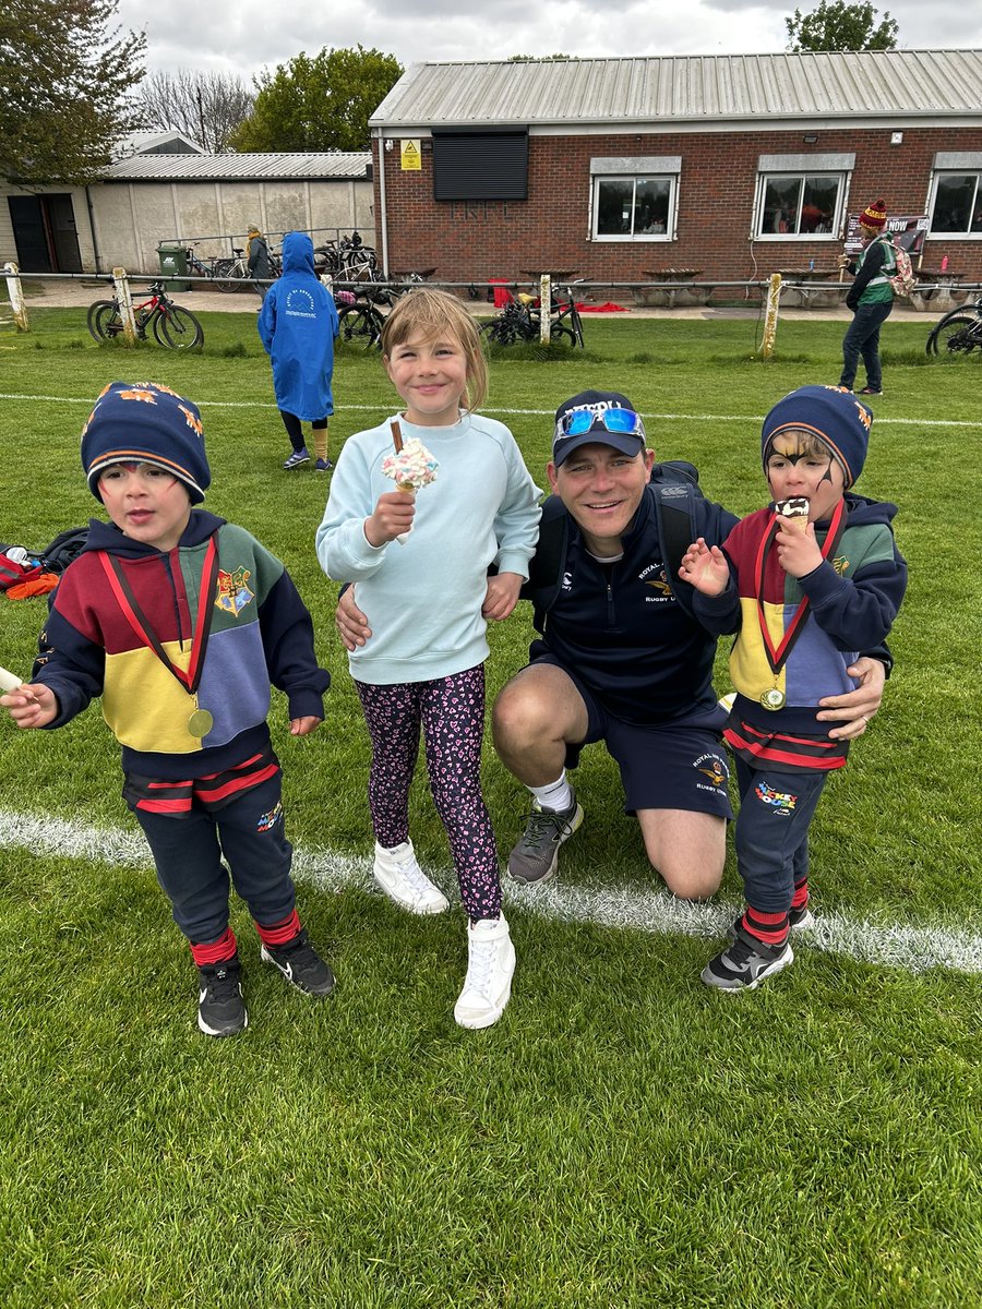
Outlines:
{"type": "Polygon", "coordinates": [[[50,726],[101,695],[123,770],[148,778],[202,778],[241,764],[268,747],[270,683],[287,694],[291,719],[323,717],[330,685],[285,567],[244,528],[203,509],[166,552],[93,518],[85,550],[52,593],[38,644],[31,678],[59,703],[50,726]],[[198,703],[213,725],[199,740],[189,730],[192,698],[135,631],[101,556],[114,556],[165,653],[187,670],[212,538],[219,573],[198,703]]]}

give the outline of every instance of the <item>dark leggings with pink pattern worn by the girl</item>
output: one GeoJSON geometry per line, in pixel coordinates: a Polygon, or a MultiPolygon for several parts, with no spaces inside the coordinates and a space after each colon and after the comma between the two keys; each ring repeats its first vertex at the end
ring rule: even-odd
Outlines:
{"type": "Polygon", "coordinates": [[[481,795],[484,665],[432,682],[355,686],[372,738],[368,806],[376,840],[390,850],[409,839],[409,791],[422,728],[429,789],[450,842],[464,907],[474,923],[498,918],[498,850],[481,795]]]}

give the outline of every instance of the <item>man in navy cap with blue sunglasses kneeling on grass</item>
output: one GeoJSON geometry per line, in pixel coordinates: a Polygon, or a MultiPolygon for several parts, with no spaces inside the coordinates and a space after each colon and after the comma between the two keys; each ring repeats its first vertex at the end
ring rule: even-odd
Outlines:
{"type": "MultiPolygon", "coordinates": [[[[706,899],[723,877],[731,809],[724,715],[712,689],[716,636],[666,577],[653,461],[627,397],[584,391],[559,406],[546,473],[566,528],[562,556],[551,564],[560,584],[543,606],[547,588],[536,593],[533,585],[551,517],[543,511],[530,589],[522,589],[542,635],[532,662],[494,708],[498,754],[533,797],[508,860],[512,878],[526,885],[555,873],[560,846],[583,822],[566,770],[584,745],[598,741],[619,764],[625,808],[636,813],[648,859],[669,890],[706,899]]],[[[712,545],[737,524],[698,496],[693,512],[693,535],[712,545]]],[[[336,620],[348,647],[371,639],[351,590],[340,597],[336,620]]],[[[818,717],[839,724],[829,729],[830,740],[860,736],[880,707],[880,658],[858,658],[850,675],[859,686],[821,704],[818,717]]]]}

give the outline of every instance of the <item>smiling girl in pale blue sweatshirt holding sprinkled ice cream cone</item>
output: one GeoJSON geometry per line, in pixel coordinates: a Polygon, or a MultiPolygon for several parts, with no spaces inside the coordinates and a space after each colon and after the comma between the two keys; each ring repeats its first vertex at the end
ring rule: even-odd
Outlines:
{"type": "Polygon", "coordinates": [[[481,795],[486,624],[512,613],[528,577],[539,491],[508,428],[475,412],[487,363],[460,300],[431,288],[405,296],[382,356],[405,410],[346,441],[317,556],[329,577],[357,584],[372,628],[348,658],[372,740],[374,878],[409,912],[448,908],[409,835],[422,730],[469,916],[454,1018],[487,1028],[508,1003],[515,949],[481,795]]]}

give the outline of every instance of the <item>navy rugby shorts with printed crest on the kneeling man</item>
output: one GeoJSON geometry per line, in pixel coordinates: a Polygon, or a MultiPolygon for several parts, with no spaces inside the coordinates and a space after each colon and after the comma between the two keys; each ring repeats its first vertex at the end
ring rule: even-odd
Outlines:
{"type": "Polygon", "coordinates": [[[579,764],[584,745],[602,741],[621,770],[625,813],[687,809],[733,818],[727,788],[729,762],[719,730],[689,724],[644,726],[625,723],[608,713],[583,682],[551,654],[543,654],[534,664],[562,669],[587,706],[587,736],[579,745],[567,746],[567,768],[579,764]]]}

